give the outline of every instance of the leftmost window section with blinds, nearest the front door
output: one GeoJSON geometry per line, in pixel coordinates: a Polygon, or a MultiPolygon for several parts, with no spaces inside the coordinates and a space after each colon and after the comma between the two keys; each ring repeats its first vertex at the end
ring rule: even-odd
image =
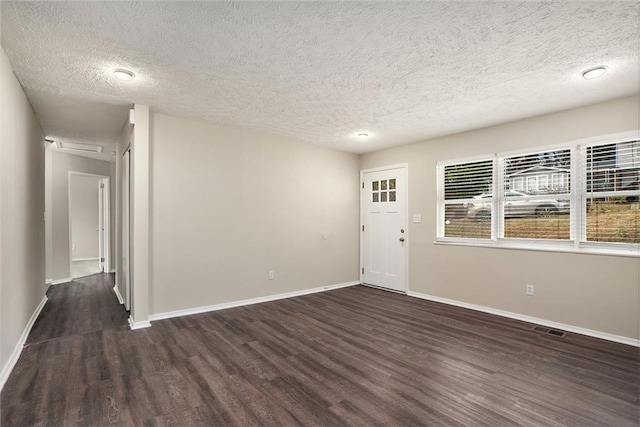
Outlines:
{"type": "Polygon", "coordinates": [[[490,239],[493,160],[440,166],[440,229],[444,237],[490,239]]]}

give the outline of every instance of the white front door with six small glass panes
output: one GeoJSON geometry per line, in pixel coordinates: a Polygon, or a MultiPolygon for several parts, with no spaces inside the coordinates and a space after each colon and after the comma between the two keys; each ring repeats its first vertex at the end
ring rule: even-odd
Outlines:
{"type": "Polygon", "coordinates": [[[365,170],[361,176],[361,282],[406,292],[407,167],[365,170]]]}

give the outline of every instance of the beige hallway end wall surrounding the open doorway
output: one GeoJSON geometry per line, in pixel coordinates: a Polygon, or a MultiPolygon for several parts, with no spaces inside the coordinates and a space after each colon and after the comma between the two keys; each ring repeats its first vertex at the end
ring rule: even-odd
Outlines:
{"type": "MultiPolygon", "coordinates": [[[[111,182],[114,182],[114,177],[111,176],[110,162],[60,152],[52,152],[51,156],[51,279],[62,280],[71,277],[69,271],[69,171],[110,176],[111,182]]],[[[111,217],[115,218],[115,191],[113,189],[111,191],[111,217]]],[[[112,222],[111,242],[114,241],[114,236],[115,227],[112,222]]],[[[115,259],[114,246],[111,245],[112,260],[115,259]]]]}

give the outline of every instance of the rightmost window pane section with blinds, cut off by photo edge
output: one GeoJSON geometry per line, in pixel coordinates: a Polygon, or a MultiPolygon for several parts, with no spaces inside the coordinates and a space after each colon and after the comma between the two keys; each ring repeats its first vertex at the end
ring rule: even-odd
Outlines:
{"type": "Polygon", "coordinates": [[[585,147],[585,240],[640,243],[640,141],[585,147]]]}

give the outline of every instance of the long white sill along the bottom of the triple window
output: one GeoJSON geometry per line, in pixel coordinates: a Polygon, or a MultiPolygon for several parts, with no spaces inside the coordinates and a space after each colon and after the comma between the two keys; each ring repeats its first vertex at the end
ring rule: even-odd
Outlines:
{"type": "Polygon", "coordinates": [[[539,242],[539,241],[505,241],[505,240],[460,240],[460,239],[437,239],[434,245],[444,246],[471,246],[492,249],[513,249],[523,251],[571,253],[586,255],[607,255],[627,258],[640,258],[640,247],[634,245],[632,248],[620,248],[615,243],[594,244],[582,243],[576,248],[573,242],[539,242]]]}

